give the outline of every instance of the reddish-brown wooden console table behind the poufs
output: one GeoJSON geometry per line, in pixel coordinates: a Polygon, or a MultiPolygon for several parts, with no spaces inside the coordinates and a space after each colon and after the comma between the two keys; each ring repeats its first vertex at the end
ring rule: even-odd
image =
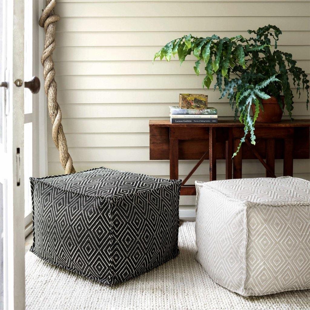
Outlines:
{"type": "Polygon", "coordinates": [[[283,175],[293,175],[293,159],[309,158],[310,120],[256,123],[256,145],[249,139],[232,160],[243,125],[219,120],[217,124],[171,124],[168,120],[149,122],[150,159],[170,160],[170,179],[179,178],[179,160],[198,160],[182,181],[181,195],[196,195],[195,185],[185,185],[200,164],[210,160],[210,181],[216,180],[216,160],[226,160],[226,179],[242,177],[242,159],[258,159],[267,177],[275,177],[275,159],[284,159],[283,175]],[[264,159],[266,159],[264,161],[264,159]]]}

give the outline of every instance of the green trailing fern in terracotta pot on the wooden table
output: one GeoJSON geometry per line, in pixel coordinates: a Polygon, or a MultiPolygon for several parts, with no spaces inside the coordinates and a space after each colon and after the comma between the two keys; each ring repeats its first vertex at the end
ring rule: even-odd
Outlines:
{"type": "Polygon", "coordinates": [[[170,61],[177,54],[182,64],[186,56],[193,53],[197,58],[194,65],[197,75],[203,64],[206,76],[202,86],[209,88],[215,79],[214,89],[219,89],[220,98],[228,97],[235,119],[239,114],[239,121],[244,125],[244,137],[236,153],[247,134],[255,144],[255,121],[280,121],[284,108],[292,120],[294,96],[289,77],[297,95],[300,96],[301,88],[306,90],[307,109],[309,103],[307,74],[296,66],[291,54],[277,49],[281,30],[268,25],[256,31],[248,30],[248,33],[254,33],[256,37],[219,38],[214,34],[198,38],[184,35],[168,42],[154,56],[154,60],[159,57],[170,61]],[[274,48],[271,40],[274,40],[274,48]]]}

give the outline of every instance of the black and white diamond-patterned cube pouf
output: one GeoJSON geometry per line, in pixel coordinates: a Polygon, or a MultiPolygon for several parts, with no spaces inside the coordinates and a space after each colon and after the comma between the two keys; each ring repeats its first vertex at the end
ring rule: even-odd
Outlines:
{"type": "Polygon", "coordinates": [[[30,183],[30,251],[49,263],[112,285],[179,254],[181,180],[102,167],[30,183]]]}

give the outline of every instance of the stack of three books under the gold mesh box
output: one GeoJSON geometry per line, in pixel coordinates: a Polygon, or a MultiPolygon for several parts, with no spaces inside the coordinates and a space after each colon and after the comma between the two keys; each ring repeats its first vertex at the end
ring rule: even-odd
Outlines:
{"type": "Polygon", "coordinates": [[[170,107],[171,124],[209,124],[217,123],[217,109],[182,109],[170,107]]]}

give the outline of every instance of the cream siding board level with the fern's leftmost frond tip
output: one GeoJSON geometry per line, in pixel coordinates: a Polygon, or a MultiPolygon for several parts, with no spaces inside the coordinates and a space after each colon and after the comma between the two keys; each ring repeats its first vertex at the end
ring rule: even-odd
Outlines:
{"type": "MultiPolygon", "coordinates": [[[[165,43],[163,43],[165,44],[165,43]]],[[[152,61],[154,54],[162,46],[140,46],[140,47],[57,47],[53,53],[54,61],[105,61],[105,60],[149,60],[152,61]]],[[[278,49],[291,53],[294,60],[309,60],[309,46],[278,46],[278,49]]],[[[193,55],[186,57],[194,60],[193,55]]],[[[158,62],[160,60],[157,60],[158,62]]],[[[175,58],[175,61],[178,61],[175,58]]],[[[155,62],[156,64],[156,62],[155,62]]]]}

